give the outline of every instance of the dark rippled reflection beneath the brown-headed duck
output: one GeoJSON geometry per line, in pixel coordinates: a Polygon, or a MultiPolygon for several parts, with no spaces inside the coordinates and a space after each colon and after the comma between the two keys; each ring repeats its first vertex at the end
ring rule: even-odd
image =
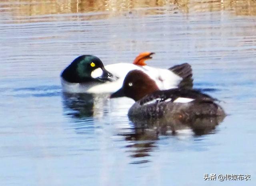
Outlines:
{"type": "MultiPolygon", "coordinates": [[[[127,145],[128,152],[132,152],[131,157],[150,156],[151,151],[157,148],[156,141],[159,136],[176,136],[180,132],[190,130],[192,135],[201,136],[211,134],[218,124],[224,120],[225,116],[204,117],[204,118],[177,118],[176,116],[160,119],[139,120],[138,118],[129,117],[134,124],[134,133],[123,134],[125,140],[133,142],[127,145]]],[[[144,163],[148,160],[135,161],[133,163],[144,163]]]]}

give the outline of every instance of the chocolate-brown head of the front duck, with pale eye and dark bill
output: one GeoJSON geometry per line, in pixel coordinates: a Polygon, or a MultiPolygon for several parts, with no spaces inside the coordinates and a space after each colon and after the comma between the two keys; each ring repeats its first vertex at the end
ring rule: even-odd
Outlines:
{"type": "Polygon", "coordinates": [[[126,96],[134,101],[138,101],[156,90],[159,90],[156,82],[147,74],[141,70],[132,70],[124,78],[122,88],[111,94],[110,98],[126,96]]]}

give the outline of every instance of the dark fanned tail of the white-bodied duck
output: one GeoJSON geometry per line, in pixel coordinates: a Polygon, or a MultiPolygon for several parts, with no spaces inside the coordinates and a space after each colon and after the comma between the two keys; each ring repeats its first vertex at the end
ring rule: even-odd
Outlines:
{"type": "Polygon", "coordinates": [[[169,68],[170,71],[174,72],[178,76],[182,77],[183,80],[178,85],[179,88],[193,88],[193,79],[192,79],[192,68],[190,64],[183,63],[175,65],[169,68]]]}

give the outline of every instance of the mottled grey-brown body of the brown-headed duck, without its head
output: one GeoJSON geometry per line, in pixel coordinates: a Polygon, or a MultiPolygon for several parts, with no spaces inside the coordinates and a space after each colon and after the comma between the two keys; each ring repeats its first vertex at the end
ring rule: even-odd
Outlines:
{"type": "Polygon", "coordinates": [[[190,120],[196,117],[223,116],[224,110],[216,99],[197,90],[170,89],[155,91],[135,102],[129,116],[140,118],[178,117],[190,120]]]}

